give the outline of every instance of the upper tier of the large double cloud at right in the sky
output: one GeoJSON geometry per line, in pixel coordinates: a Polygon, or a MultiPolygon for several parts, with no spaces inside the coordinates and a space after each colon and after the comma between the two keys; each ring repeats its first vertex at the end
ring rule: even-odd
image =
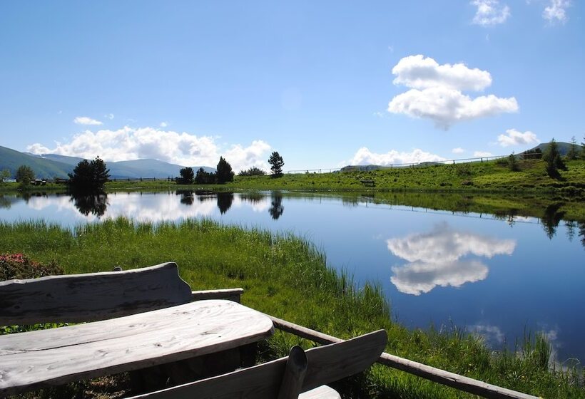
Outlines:
{"type": "Polygon", "coordinates": [[[463,63],[439,65],[437,61],[422,55],[402,58],[394,68],[396,75],[392,82],[409,88],[433,88],[441,86],[454,90],[483,90],[492,84],[492,76],[487,71],[470,69],[463,63]]]}

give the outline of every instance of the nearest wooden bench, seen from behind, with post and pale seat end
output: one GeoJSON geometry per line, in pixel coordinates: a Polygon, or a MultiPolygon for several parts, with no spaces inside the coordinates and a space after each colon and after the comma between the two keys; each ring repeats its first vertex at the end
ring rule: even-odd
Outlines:
{"type": "Polygon", "coordinates": [[[339,398],[323,384],[364,371],[384,351],[386,341],[386,331],[380,330],[308,351],[295,346],[287,358],[132,399],[339,398]]]}

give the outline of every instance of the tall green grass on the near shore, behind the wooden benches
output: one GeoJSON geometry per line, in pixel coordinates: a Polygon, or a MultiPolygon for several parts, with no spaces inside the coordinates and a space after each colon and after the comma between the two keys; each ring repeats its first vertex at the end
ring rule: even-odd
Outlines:
{"type": "MultiPolygon", "coordinates": [[[[392,322],[377,286],[356,291],[350,278],[327,268],[324,254],[290,234],[193,220],[155,227],[116,219],[75,232],[42,222],[0,223],[0,252],[55,261],[67,273],[173,260],[192,289],[241,286],[244,304],[340,338],[385,328],[387,351],[398,356],[546,398],[585,398],[582,375],[549,368],[550,347],[544,338],[527,338],[512,353],[490,351],[480,338],[455,328],[408,331],[392,322]]],[[[283,356],[295,342],[297,338],[278,333],[263,356],[283,356]]],[[[372,398],[466,397],[382,366],[346,388],[372,398]]]]}

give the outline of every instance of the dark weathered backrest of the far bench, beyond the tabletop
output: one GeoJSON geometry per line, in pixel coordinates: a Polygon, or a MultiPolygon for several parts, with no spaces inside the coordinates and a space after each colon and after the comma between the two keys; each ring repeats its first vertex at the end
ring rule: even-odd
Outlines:
{"type": "Polygon", "coordinates": [[[78,323],[186,304],[190,287],[167,262],[127,271],[0,282],[0,326],[78,323]]]}

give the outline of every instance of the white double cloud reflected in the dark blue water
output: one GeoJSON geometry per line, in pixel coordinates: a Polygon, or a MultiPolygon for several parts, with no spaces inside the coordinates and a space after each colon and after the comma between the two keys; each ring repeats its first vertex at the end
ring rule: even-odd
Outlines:
{"type": "Polygon", "coordinates": [[[439,224],[429,233],[387,240],[390,252],[409,263],[392,267],[390,281],[400,292],[420,295],[436,286],[459,287],[487,277],[488,268],[469,255],[492,258],[511,255],[516,242],[469,232],[457,232],[439,224]]]}

